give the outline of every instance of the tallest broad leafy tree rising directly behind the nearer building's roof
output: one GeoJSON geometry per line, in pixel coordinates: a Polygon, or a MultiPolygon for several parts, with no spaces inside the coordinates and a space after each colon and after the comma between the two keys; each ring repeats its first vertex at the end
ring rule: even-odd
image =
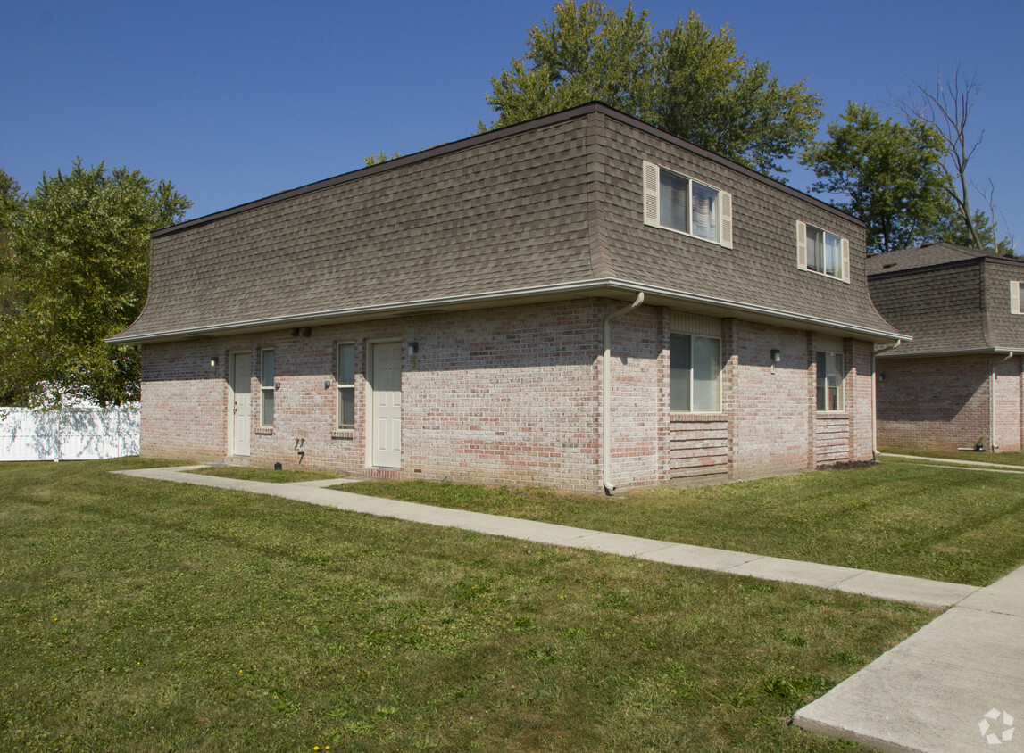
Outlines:
{"type": "Polygon", "coordinates": [[[814,138],[820,98],[805,82],[779,84],[767,61],[750,63],[728,25],[715,34],[691,11],[655,33],[632,5],[622,16],[599,0],[552,10],[527,33],[523,58],[490,80],[499,118],[480,131],[598,100],[776,177],[814,138]]]}

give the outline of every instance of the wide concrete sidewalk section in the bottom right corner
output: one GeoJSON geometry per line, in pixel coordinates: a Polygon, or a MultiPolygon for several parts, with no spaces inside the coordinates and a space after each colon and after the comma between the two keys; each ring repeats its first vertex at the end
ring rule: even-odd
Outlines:
{"type": "Polygon", "coordinates": [[[794,716],[884,751],[1024,751],[1024,568],[794,716]],[[998,747],[995,747],[998,746],[998,747]]]}

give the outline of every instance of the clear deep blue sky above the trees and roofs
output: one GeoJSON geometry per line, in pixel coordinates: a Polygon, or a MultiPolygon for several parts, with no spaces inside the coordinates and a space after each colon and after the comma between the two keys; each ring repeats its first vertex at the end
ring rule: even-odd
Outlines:
{"type": "MultiPolygon", "coordinates": [[[[495,116],[489,80],[552,17],[512,2],[8,2],[0,40],[0,168],[33,189],[43,172],[127,165],[171,180],[189,218],[470,135],[495,116]]],[[[625,3],[610,2],[622,11],[625,3]]],[[[638,2],[655,27],[690,5],[638,2]]],[[[958,60],[976,73],[972,175],[995,186],[1000,225],[1024,233],[1024,3],[735,0],[692,6],[783,84],[807,79],[826,123],[848,100],[889,115],[910,79],[958,60]],[[1005,219],[1002,217],[1005,215],[1005,219]]],[[[810,177],[790,182],[806,189],[810,177]]],[[[1024,246],[1024,245],[1021,245],[1024,246]]],[[[1018,247],[1018,251],[1021,250],[1018,247]]]]}

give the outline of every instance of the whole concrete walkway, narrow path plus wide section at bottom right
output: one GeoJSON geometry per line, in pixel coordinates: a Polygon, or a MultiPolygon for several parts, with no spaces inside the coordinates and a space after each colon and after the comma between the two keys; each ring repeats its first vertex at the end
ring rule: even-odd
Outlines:
{"type": "MultiPolygon", "coordinates": [[[[201,468],[201,467],[190,467],[201,468]]],[[[883,751],[1020,750],[1024,753],[1024,568],[988,586],[796,562],[602,533],[483,513],[327,489],[348,479],[269,484],[183,473],[121,471],[163,481],[237,489],[369,515],[461,528],[539,543],[952,607],[829,693],[794,722],[883,751]],[[993,746],[998,745],[998,748],[993,746]]]]}

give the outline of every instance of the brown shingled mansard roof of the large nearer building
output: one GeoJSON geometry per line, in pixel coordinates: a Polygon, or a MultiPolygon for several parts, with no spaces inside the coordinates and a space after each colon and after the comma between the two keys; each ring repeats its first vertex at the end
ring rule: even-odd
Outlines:
{"type": "Polygon", "coordinates": [[[635,290],[892,341],[863,253],[852,217],[589,104],[158,231],[145,308],[112,342],[635,290]],[[730,191],[734,248],[645,227],[644,159],[730,191]],[[797,270],[796,220],[850,238],[850,283],[797,270]]]}

